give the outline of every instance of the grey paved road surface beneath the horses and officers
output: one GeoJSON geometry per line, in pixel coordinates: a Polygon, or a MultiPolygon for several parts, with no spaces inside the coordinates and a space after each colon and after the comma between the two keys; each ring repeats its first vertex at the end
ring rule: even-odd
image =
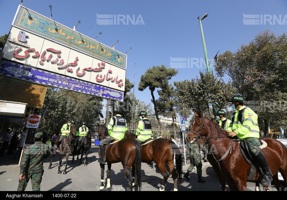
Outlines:
{"type": "MultiPolygon", "coordinates": [[[[88,166],[80,165],[79,163],[72,164],[71,156],[69,157],[67,174],[57,173],[58,156],[55,156],[52,164],[52,169],[48,170],[48,162],[45,159],[41,191],[98,191],[100,188],[100,165],[97,162],[98,148],[92,147],[88,154],[88,166]]],[[[64,159],[63,159],[64,160],[64,159]]],[[[205,161],[205,160],[204,160],[205,161]]],[[[188,164],[183,166],[184,173],[188,168],[188,164]]],[[[62,170],[64,167],[61,168],[62,170]]],[[[210,164],[203,162],[202,178],[206,183],[198,183],[196,170],[190,174],[190,181],[182,179],[182,184],[178,188],[179,191],[221,191],[219,181],[210,164]]],[[[0,158],[0,191],[16,191],[19,181],[18,159],[14,159],[14,155],[6,155],[0,158]]],[[[155,165],[151,169],[149,165],[142,163],[142,190],[143,191],[158,191],[162,175],[160,170],[155,165]]],[[[105,174],[106,181],[106,174],[105,174]]],[[[105,183],[106,184],[106,183],[105,183]]],[[[123,167],[120,163],[112,164],[111,184],[113,191],[124,191],[127,182],[123,173],[123,167]]],[[[229,190],[226,185],[227,190],[229,190]]],[[[255,184],[248,183],[248,190],[254,191],[255,184]]],[[[31,191],[31,183],[28,183],[26,191],[31,191]]],[[[173,180],[168,179],[165,191],[173,190],[173,180]]],[[[274,190],[274,187],[271,187],[274,190]]]]}

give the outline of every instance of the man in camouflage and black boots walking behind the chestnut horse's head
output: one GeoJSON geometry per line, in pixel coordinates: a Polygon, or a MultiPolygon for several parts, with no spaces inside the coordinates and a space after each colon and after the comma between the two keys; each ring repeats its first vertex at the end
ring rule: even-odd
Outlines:
{"type": "Polygon", "coordinates": [[[183,176],[187,180],[190,180],[188,178],[188,175],[190,172],[192,172],[194,166],[196,166],[197,176],[198,176],[197,182],[205,183],[205,181],[201,179],[202,162],[200,159],[199,147],[198,147],[197,143],[198,143],[198,141],[196,139],[193,139],[192,142],[187,142],[186,155],[187,155],[187,157],[190,157],[190,166],[187,168],[187,172],[183,176]]]}

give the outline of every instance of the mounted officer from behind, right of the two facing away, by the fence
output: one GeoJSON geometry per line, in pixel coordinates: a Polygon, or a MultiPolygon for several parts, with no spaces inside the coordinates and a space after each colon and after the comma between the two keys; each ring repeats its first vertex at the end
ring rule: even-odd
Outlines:
{"type": "Polygon", "coordinates": [[[146,111],[141,111],[138,116],[140,116],[141,121],[138,122],[137,132],[135,133],[136,140],[142,144],[144,141],[152,137],[152,123],[146,118],[146,111]]]}

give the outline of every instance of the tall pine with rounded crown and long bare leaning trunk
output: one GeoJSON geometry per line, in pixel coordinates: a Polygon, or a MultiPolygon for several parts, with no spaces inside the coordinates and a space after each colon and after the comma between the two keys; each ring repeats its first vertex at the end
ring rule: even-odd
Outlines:
{"type": "Polygon", "coordinates": [[[155,88],[162,88],[164,85],[168,84],[173,76],[178,73],[174,68],[167,68],[164,65],[153,66],[146,70],[144,75],[141,75],[141,81],[138,84],[138,90],[143,91],[147,87],[149,88],[152,95],[152,103],[154,104],[155,117],[158,120],[158,123],[161,124],[161,121],[158,117],[158,110],[156,106],[154,91],[155,88]]]}

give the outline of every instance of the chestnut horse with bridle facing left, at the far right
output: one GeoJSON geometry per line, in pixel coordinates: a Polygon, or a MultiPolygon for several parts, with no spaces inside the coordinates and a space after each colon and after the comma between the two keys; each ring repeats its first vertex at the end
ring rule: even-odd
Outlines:
{"type": "MultiPolygon", "coordinates": [[[[186,137],[187,141],[191,141],[194,136],[197,139],[206,137],[208,144],[208,153],[213,152],[209,158],[216,166],[217,170],[220,170],[221,174],[217,175],[225,177],[220,179],[221,184],[225,185],[225,180],[231,191],[247,190],[247,178],[251,165],[249,165],[239,150],[238,142],[233,142],[225,131],[222,130],[216,123],[210,119],[205,118],[199,112],[199,115],[195,114],[196,118],[191,127],[191,133],[186,137]],[[227,155],[227,156],[226,156],[227,155]],[[226,157],[225,157],[226,156],[226,157]]],[[[278,191],[283,190],[282,185],[278,180],[278,170],[283,176],[285,183],[287,184],[287,149],[286,147],[276,139],[264,138],[268,146],[262,149],[265,154],[271,173],[273,174],[273,183],[278,191]]],[[[259,168],[255,173],[251,182],[260,181],[259,168]]],[[[225,186],[224,186],[225,187],[225,186]]]]}

